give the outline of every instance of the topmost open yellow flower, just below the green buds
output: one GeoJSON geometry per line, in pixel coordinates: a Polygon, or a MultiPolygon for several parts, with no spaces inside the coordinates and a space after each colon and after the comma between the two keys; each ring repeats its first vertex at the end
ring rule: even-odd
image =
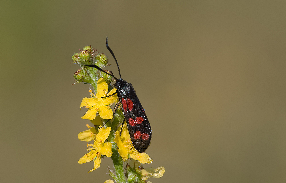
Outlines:
{"type": "Polygon", "coordinates": [[[88,111],[84,116],[82,116],[82,119],[88,119],[93,120],[96,117],[96,113],[102,117],[102,119],[108,120],[112,119],[112,109],[110,108],[110,105],[114,103],[117,100],[116,94],[107,98],[102,98],[108,95],[113,94],[116,92],[116,89],[113,88],[108,94],[108,85],[106,81],[103,78],[98,79],[97,81],[97,94],[96,96],[92,93],[92,91],[89,91],[91,94],[91,98],[85,97],[82,99],[82,103],[80,104],[80,108],[86,107],[88,108],[88,111]]]}

